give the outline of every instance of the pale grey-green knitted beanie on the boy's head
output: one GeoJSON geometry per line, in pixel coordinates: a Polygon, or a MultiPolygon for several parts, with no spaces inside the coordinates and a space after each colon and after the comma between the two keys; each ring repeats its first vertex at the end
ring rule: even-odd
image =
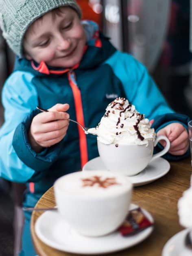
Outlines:
{"type": "Polygon", "coordinates": [[[13,52],[22,57],[23,37],[28,27],[48,11],[62,6],[72,7],[81,18],[75,0],[0,0],[0,27],[13,52]]]}

